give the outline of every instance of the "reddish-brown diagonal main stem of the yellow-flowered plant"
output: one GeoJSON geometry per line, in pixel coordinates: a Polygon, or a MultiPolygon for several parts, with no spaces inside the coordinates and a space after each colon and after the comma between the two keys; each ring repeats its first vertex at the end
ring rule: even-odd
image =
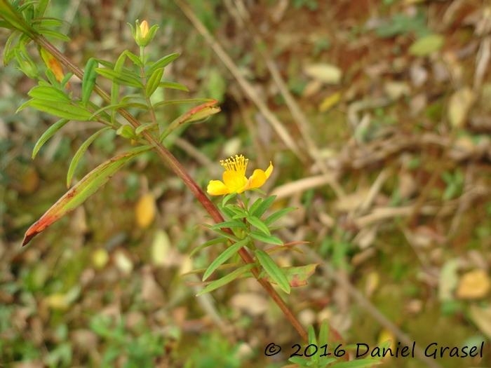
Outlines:
{"type": "MultiPolygon", "coordinates": [[[[51,53],[54,57],[58,59],[62,64],[67,67],[72,73],[74,73],[79,79],[83,79],[83,71],[79,67],[77,67],[75,64],[73,64],[65,55],[60,53],[58,48],[55,48],[53,44],[51,44],[45,37],[41,35],[34,35],[33,39],[36,43],[38,43],[40,46],[43,48],[46,48],[46,50],[51,53]]],[[[102,88],[95,86],[94,88],[95,92],[100,95],[106,102],[110,102],[110,97],[109,95],[102,90],[102,88]]],[[[128,111],[125,109],[118,109],[119,114],[123,116],[131,125],[133,125],[133,128],[137,128],[140,126],[140,123],[136,120],[136,118],[131,115],[128,111]]],[[[181,165],[179,161],[177,161],[177,158],[173,156],[173,154],[166,149],[150,132],[144,131],[142,132],[142,137],[149,142],[152,146],[154,146],[154,149],[156,150],[157,154],[162,158],[164,163],[166,163],[171,170],[182,179],[184,184],[187,185],[191,193],[194,194],[196,199],[199,200],[201,205],[205,208],[205,210],[210,214],[210,216],[213,218],[213,220],[217,223],[224,222],[224,218],[222,217],[222,214],[220,211],[217,209],[215,204],[206,196],[206,194],[203,192],[200,186],[194,182],[194,180],[189,176],[187,171],[184,169],[184,167],[181,165]]],[[[241,248],[241,250],[238,251],[238,254],[241,256],[243,261],[246,264],[254,264],[253,257],[250,256],[249,252],[245,248],[241,248]]],[[[266,292],[269,294],[271,299],[275,301],[275,303],[278,305],[278,307],[281,309],[283,314],[285,315],[285,318],[290,322],[290,324],[297,330],[298,334],[307,341],[307,332],[305,331],[304,327],[300,324],[299,320],[293,315],[292,311],[290,311],[290,308],[285,304],[285,301],[281,299],[280,295],[278,292],[276,292],[276,289],[264,278],[260,278],[260,271],[257,268],[253,268],[252,270],[253,275],[257,279],[257,281],[260,283],[260,285],[266,290],[266,292]]],[[[336,339],[338,341],[342,341],[341,336],[337,331],[332,329],[332,333],[335,335],[336,339]]]]}

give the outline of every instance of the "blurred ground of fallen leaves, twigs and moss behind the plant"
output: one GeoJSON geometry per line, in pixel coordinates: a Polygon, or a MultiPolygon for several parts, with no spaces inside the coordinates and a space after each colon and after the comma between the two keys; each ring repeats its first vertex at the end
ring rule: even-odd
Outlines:
{"type": "MultiPolygon", "coordinates": [[[[487,342],[482,359],[447,357],[436,360],[440,367],[490,367],[489,4],[188,3],[308,152],[302,125],[271,77],[272,60],[307,116],[330,179],[318,179],[317,163],[300,161],[287,148],[174,1],[53,0],[49,12],[65,20],[72,41],[58,46],[80,66],[93,56],[114,60],[133,47],[127,22],[158,24],[149,53],[154,59],[181,53],[166,79],[190,90],[166,90],[166,98],[213,97],[222,107],[168,143],[196,181],[205,187],[220,175],[218,160],[238,152],[260,168],[273,161],[267,189],[277,188],[278,206],[297,207],[278,233],[285,241],[311,242],[283,264],[325,262],[420,346],[487,342]],[[307,177],[314,181],[302,182],[307,177]]],[[[7,36],[2,29],[0,38],[7,36]]],[[[79,88],[76,79],[71,83],[79,88]]],[[[32,86],[13,65],[0,69],[1,364],[286,364],[287,346],[299,338],[253,280],[195,297],[198,278],[182,274],[206,267],[217,254],[211,248],[187,257],[208,240],[199,224],[210,219],[153,154],[20,247],[27,226],[66,191],[69,160],[95,128],[65,125],[32,161],[34,143],[55,121],[32,109],[15,113],[32,86]],[[271,341],[283,345],[283,354],[264,357],[271,341]]],[[[76,178],[124,145],[114,132],[101,135],[76,178]]],[[[287,300],[302,323],[328,318],[349,342],[398,340],[322,267],[287,300]]],[[[387,359],[384,367],[424,364],[406,357],[387,359]]]]}

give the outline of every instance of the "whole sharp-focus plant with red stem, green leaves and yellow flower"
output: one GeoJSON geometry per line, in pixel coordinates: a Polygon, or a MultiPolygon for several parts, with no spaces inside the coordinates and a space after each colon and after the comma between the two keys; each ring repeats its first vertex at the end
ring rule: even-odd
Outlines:
{"type": "MultiPolygon", "coordinates": [[[[249,203],[248,197],[243,194],[248,189],[258,189],[264,184],[271,174],[271,170],[273,170],[272,164],[267,170],[255,170],[253,175],[247,178],[245,177],[245,168],[248,161],[243,156],[236,156],[230,158],[229,161],[224,161],[222,163],[225,168],[223,182],[213,180],[208,185],[210,195],[224,195],[219,210],[206,196],[203,189],[189,176],[175,156],[166,149],[163,141],[176,128],[203,121],[208,116],[219,112],[220,108],[217,107],[217,101],[210,99],[161,100],[157,102],[151,99],[159,88],[187,90],[185,86],[179,83],[162,80],[166,66],[179,55],[173,53],[161,57],[159,60],[149,60],[145,53],[145,49],[151,43],[158,27],[156,25],[149,27],[146,21],[141,23],[136,21],[135,25],[130,27],[133,38],[140,49],[139,55],[130,50],[124,50],[116,62],[90,58],[82,71],[48,41],[48,38],[68,40],[67,36],[56,30],[61,25],[60,20],[44,17],[48,3],[48,0],[0,0],[0,27],[11,30],[4,50],[4,63],[17,62],[18,68],[24,74],[38,81],[38,85],[28,93],[31,99],[22,104],[20,109],[34,107],[60,118],[39,138],[34,147],[33,156],[36,156],[41,146],[69,121],[100,123],[100,130],[97,130],[86,142],[83,142],[79,150],[76,151],[67,172],[67,185],[69,185],[79,160],[90,144],[105,130],[115,130],[117,135],[123,139],[128,139],[136,146],[109,158],[105,163],[88,172],[36,223],[29,227],[22,245],[29,243],[36,234],[81,205],[132,158],[144,151],[153,150],[173,170],[175,175],[182,179],[216,223],[215,226],[210,226],[210,229],[217,233],[217,238],[210,240],[197,250],[219,243],[226,245],[225,250],[212,261],[204,272],[203,280],[208,279],[217,268],[224,266],[225,262],[235,254],[238,254],[243,261],[243,265],[232,264],[236,266],[234,271],[223,278],[208,283],[203,292],[210,292],[239,276],[253,277],[281,308],[285,318],[295,327],[302,340],[307,341],[308,336],[304,327],[295,318],[295,315],[272,285],[274,283],[283,292],[289,293],[290,287],[296,286],[295,282],[298,283],[299,277],[307,278],[315,268],[313,265],[281,268],[270,256],[272,252],[288,249],[279,238],[271,234],[271,231],[274,230],[274,222],[291,209],[285,208],[277,212],[267,213],[274,197],[259,198],[255,202],[249,203]],[[27,44],[31,42],[37,46],[39,55],[45,64],[44,67],[36,64],[32,55],[29,54],[27,44]],[[69,89],[69,79],[73,75],[81,80],[80,96],[74,95],[69,89]],[[97,78],[109,79],[112,82],[110,93],[105,92],[97,85],[97,78]],[[121,87],[130,88],[132,93],[122,95],[121,87]],[[92,98],[94,94],[102,97],[102,104],[94,102],[95,99],[92,98]],[[189,109],[173,121],[158,121],[156,118],[156,111],[169,104],[193,102],[200,102],[201,104],[189,109]],[[150,116],[149,121],[137,120],[133,114],[128,112],[130,108],[149,113],[147,114],[150,116]],[[231,200],[236,200],[236,203],[231,203],[231,200]],[[267,215],[265,215],[266,213],[267,215]],[[264,249],[258,243],[266,243],[273,245],[273,247],[264,249]]],[[[335,329],[331,328],[330,332],[331,341],[342,341],[335,329]]],[[[344,357],[344,359],[346,358],[344,357]]],[[[295,363],[300,364],[300,362],[295,363]]],[[[334,362],[328,362],[328,365],[332,366],[331,363],[334,362]]],[[[372,363],[370,362],[370,364],[372,363]]],[[[315,362],[315,364],[317,363],[315,362]]],[[[321,366],[327,365],[316,365],[316,367],[321,366]]],[[[349,365],[345,367],[349,367],[349,365]]]]}

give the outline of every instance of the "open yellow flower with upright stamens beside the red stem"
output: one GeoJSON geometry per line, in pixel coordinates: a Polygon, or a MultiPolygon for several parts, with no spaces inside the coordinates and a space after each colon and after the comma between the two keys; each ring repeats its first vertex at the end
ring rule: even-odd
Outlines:
{"type": "Polygon", "coordinates": [[[242,155],[235,155],[220,161],[225,169],[223,172],[223,182],[220,180],[210,180],[208,184],[208,194],[211,196],[222,196],[229,193],[242,193],[249,189],[260,188],[269,178],[273,171],[273,164],[269,163],[269,168],[264,170],[256,169],[249,178],[245,177],[245,169],[249,162],[248,158],[242,155]]]}

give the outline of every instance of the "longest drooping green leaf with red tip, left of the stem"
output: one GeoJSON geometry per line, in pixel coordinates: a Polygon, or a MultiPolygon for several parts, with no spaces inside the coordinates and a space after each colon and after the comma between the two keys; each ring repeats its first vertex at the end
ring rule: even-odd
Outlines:
{"type": "Polygon", "coordinates": [[[79,205],[95,193],[97,189],[106,184],[109,178],[112,177],[121,166],[130,161],[131,158],[134,158],[138,154],[148,151],[149,149],[151,149],[149,146],[137,147],[136,149],[114,156],[90,171],[80,182],[67,191],[67,193],[51,206],[39,220],[27,229],[24,240],[22,240],[22,246],[29,243],[34,236],[41,233],[41,231],[53,224],[53,222],[65,216],[65,214],[74,210],[76,207],[79,207],[79,205]]]}

